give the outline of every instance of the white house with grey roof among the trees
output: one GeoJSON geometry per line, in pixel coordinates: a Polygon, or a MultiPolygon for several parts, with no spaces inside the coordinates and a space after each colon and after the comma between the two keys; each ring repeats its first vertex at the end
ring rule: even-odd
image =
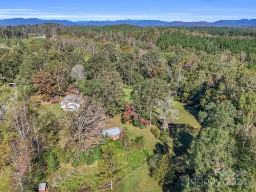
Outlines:
{"type": "Polygon", "coordinates": [[[81,100],[77,95],[69,94],[64,98],[60,105],[65,111],[76,111],[81,105],[81,100]]]}

